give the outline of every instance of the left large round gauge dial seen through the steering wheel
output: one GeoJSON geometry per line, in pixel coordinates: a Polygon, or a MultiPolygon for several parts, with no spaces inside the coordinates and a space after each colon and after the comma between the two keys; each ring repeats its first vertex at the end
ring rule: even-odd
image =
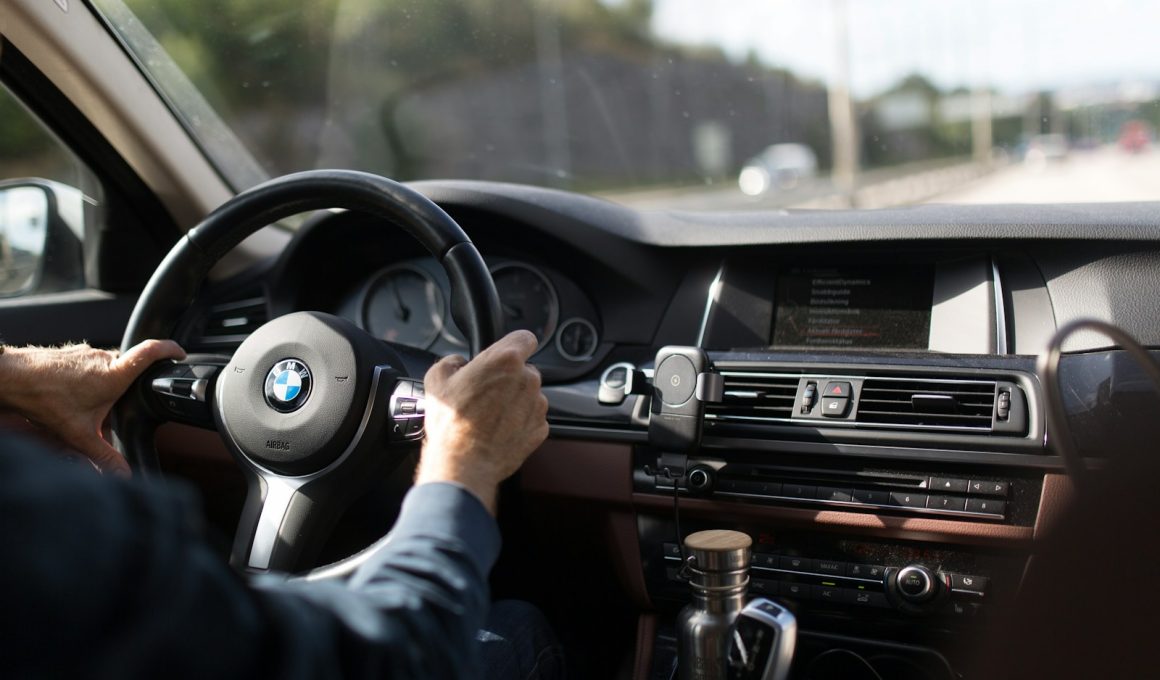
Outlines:
{"type": "Polygon", "coordinates": [[[418,267],[389,267],[367,288],[362,318],[376,338],[426,349],[443,330],[443,291],[418,267]]]}

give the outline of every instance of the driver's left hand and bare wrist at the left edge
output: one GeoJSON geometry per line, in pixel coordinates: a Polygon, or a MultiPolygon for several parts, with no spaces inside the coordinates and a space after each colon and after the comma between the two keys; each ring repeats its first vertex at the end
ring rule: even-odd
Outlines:
{"type": "Polygon", "coordinates": [[[8,347],[0,355],[0,400],[102,471],[128,477],[129,464],[102,434],[109,410],[150,364],[184,356],[173,340],[146,340],[119,356],[88,345],[8,347]]]}

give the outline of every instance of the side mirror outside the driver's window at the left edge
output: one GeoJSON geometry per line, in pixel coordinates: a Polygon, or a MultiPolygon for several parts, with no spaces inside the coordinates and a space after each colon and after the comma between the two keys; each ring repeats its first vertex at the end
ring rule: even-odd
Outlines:
{"type": "Polygon", "coordinates": [[[0,297],[84,284],[85,198],[45,180],[0,182],[0,297]]]}

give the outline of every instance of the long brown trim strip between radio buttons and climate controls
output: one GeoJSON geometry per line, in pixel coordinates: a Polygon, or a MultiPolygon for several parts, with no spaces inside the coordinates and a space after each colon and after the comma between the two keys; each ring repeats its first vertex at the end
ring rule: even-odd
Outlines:
{"type": "MultiPolygon", "coordinates": [[[[670,497],[633,493],[632,502],[640,509],[662,513],[673,512],[673,499],[670,497]]],[[[709,516],[717,520],[726,518],[757,520],[793,528],[806,527],[831,531],[849,531],[853,529],[858,534],[884,538],[955,542],[974,545],[1012,545],[1030,542],[1034,537],[1034,530],[1030,527],[719,502],[697,498],[681,499],[681,513],[688,513],[691,516],[709,516]]]]}

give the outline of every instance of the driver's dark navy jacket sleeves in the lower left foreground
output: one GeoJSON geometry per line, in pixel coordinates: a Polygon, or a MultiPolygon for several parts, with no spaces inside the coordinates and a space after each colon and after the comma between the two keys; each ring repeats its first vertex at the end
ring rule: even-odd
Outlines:
{"type": "Polygon", "coordinates": [[[350,583],[249,583],[189,493],[0,437],[6,677],[474,678],[499,531],[454,485],[413,489],[350,583]]]}

